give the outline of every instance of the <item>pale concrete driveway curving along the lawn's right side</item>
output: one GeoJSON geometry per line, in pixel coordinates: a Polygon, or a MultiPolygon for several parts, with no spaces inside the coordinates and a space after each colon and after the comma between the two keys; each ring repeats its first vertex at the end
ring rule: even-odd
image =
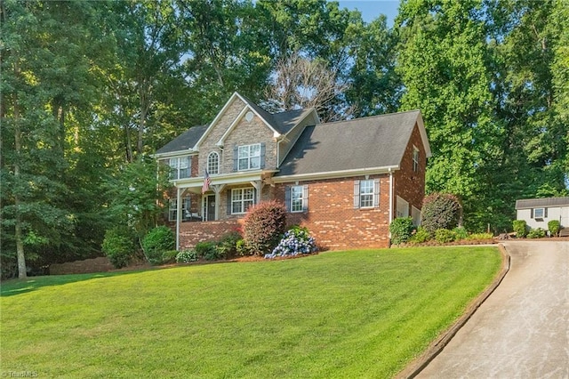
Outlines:
{"type": "Polygon", "coordinates": [[[505,246],[501,285],[418,378],[569,378],[569,242],[505,246]]]}

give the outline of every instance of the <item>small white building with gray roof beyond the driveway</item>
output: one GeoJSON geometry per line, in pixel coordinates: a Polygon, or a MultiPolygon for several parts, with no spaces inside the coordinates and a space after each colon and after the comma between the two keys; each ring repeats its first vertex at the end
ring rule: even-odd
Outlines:
{"type": "Polygon", "coordinates": [[[517,220],[525,220],[532,229],[548,230],[548,222],[558,220],[569,228],[569,198],[527,198],[516,200],[517,220]]]}

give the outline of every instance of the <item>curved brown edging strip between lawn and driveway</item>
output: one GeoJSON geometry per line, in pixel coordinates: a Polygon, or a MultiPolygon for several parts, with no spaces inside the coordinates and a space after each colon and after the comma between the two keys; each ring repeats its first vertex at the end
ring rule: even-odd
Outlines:
{"type": "Polygon", "coordinates": [[[449,327],[445,330],[439,337],[429,345],[427,350],[421,354],[421,356],[417,359],[414,359],[403,371],[397,374],[397,379],[403,378],[413,378],[418,375],[425,367],[429,365],[429,363],[437,357],[437,355],[443,351],[445,346],[451,341],[454,335],[463,327],[466,322],[472,317],[474,312],[482,305],[483,302],[493,293],[493,291],[500,286],[502,279],[506,276],[509,271],[510,265],[510,255],[506,248],[500,244],[498,248],[501,253],[501,270],[493,279],[493,282],[488,286],[482,294],[479,294],[477,298],[470,303],[469,307],[467,308],[466,312],[461,316],[460,319],[456,320],[453,326],[449,327]]]}

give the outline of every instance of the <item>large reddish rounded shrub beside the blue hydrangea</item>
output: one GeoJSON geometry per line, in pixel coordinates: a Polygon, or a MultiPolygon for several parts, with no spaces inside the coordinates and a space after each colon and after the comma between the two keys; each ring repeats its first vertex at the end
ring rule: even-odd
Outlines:
{"type": "Polygon", "coordinates": [[[252,254],[272,251],[286,226],[286,209],[276,201],[252,206],[244,217],[243,238],[252,254]]]}

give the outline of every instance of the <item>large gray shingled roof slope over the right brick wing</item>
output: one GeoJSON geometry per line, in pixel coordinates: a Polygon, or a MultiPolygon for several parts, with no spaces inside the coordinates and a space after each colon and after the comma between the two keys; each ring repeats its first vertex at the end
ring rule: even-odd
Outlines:
{"type": "Polygon", "coordinates": [[[399,165],[419,110],[307,126],[276,176],[399,165]]]}

